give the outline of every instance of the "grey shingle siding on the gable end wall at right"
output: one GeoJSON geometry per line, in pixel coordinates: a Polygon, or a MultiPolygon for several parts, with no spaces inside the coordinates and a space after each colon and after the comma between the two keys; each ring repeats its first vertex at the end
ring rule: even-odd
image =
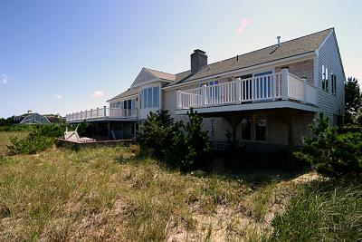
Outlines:
{"type": "Polygon", "coordinates": [[[317,58],[317,84],[319,89],[320,112],[325,113],[325,115],[329,117],[329,120],[333,121],[333,114],[339,115],[344,113],[344,82],[346,80],[334,32],[330,34],[326,42],[320,46],[317,58]],[[329,92],[322,90],[322,65],[329,69],[329,92]],[[337,76],[336,96],[331,93],[331,73],[337,76]]]}

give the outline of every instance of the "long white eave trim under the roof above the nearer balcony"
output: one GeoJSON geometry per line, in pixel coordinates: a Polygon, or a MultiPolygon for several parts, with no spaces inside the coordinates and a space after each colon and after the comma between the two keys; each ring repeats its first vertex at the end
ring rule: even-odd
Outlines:
{"type": "Polygon", "coordinates": [[[227,76],[232,75],[234,73],[247,72],[247,71],[250,71],[250,70],[253,70],[253,69],[258,69],[258,68],[264,68],[264,69],[274,68],[275,69],[276,64],[283,65],[283,64],[288,64],[288,63],[296,63],[296,60],[298,60],[300,62],[310,60],[310,59],[312,59],[310,57],[314,58],[315,54],[316,54],[315,52],[302,53],[302,54],[299,54],[299,55],[296,55],[296,56],[283,58],[283,59],[272,61],[272,62],[269,62],[269,63],[256,64],[256,65],[253,65],[253,66],[240,68],[240,69],[233,70],[233,71],[230,71],[230,72],[217,73],[217,74],[214,74],[214,75],[210,75],[210,76],[206,76],[206,77],[203,77],[203,78],[195,79],[195,80],[192,80],[192,81],[189,81],[189,82],[183,82],[183,83],[178,83],[178,84],[171,85],[171,86],[165,86],[164,88],[162,88],[162,90],[177,89],[177,88],[179,88],[181,86],[190,85],[190,84],[195,83],[195,82],[203,82],[205,80],[212,79],[212,78],[227,77],[227,76]]]}

